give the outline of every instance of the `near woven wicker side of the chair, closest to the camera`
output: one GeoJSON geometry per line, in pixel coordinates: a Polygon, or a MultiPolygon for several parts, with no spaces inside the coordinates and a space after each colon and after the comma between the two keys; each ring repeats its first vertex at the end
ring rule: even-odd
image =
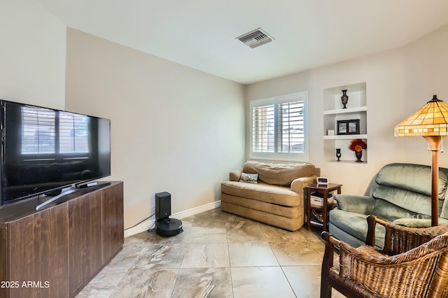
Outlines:
{"type": "Polygon", "coordinates": [[[399,255],[384,255],[371,246],[339,243],[339,278],[363,285],[380,297],[424,297],[438,270],[446,288],[447,235],[399,255]],[[440,263],[445,264],[440,264],[440,263]],[[381,283],[378,277],[381,276],[381,283]],[[423,283],[421,281],[424,281],[423,283]]]}

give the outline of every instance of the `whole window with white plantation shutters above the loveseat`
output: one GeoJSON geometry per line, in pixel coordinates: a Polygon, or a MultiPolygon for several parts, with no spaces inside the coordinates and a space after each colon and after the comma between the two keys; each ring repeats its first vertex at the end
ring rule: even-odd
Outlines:
{"type": "Polygon", "coordinates": [[[307,159],[307,92],[251,101],[251,158],[307,159]]]}

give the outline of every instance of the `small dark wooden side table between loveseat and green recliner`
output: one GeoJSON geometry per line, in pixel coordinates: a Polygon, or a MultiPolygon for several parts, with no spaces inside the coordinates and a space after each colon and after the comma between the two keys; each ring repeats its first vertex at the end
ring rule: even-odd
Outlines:
{"type": "Polygon", "coordinates": [[[307,229],[311,229],[313,227],[321,227],[324,231],[328,232],[328,213],[332,208],[335,207],[335,204],[331,204],[328,206],[328,194],[337,190],[337,193],[341,193],[342,184],[328,183],[328,185],[318,184],[315,186],[307,186],[305,187],[305,195],[307,199],[307,229]],[[311,207],[311,192],[320,192],[323,194],[323,206],[320,208],[311,207]],[[317,220],[311,220],[311,209],[322,212],[323,222],[319,222],[317,220]]]}

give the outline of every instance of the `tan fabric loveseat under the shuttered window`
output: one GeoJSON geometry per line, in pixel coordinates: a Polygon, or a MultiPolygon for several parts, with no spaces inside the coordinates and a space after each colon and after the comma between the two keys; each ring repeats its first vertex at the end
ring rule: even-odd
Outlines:
{"type": "Polygon", "coordinates": [[[230,172],[230,181],[221,183],[221,209],[295,231],[304,224],[303,188],[316,183],[319,175],[320,169],[306,162],[246,162],[242,170],[230,172]],[[256,183],[240,182],[241,174],[247,180],[245,173],[258,174],[256,183]]]}

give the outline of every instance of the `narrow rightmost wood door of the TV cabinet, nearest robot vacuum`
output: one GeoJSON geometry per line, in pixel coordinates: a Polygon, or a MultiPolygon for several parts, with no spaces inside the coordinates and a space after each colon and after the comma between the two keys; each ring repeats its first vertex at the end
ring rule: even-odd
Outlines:
{"type": "Polygon", "coordinates": [[[125,228],[123,220],[123,182],[102,190],[103,208],[103,264],[109,262],[123,248],[125,228]]]}

